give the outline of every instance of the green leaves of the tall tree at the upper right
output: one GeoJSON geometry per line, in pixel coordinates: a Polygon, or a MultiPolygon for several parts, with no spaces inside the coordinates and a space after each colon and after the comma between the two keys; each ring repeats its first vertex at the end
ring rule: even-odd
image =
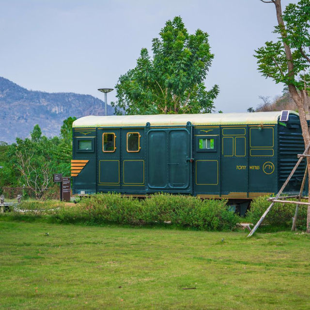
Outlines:
{"type": "Polygon", "coordinates": [[[255,50],[258,69],[264,77],[271,77],[276,83],[294,85],[299,90],[310,90],[310,0],[287,5],[283,12],[285,29],[275,27],[279,35],[276,42],[268,41],[255,50]],[[294,71],[289,71],[283,43],[292,52],[294,71]]]}

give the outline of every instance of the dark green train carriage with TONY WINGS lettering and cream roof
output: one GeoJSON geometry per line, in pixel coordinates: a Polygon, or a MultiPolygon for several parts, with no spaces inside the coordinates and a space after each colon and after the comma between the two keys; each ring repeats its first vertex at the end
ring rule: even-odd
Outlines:
{"type": "MultiPolygon", "coordinates": [[[[294,111],[86,116],[73,123],[73,194],[167,192],[247,205],[277,193],[303,150],[294,111]]],[[[299,191],[304,169],[286,193],[299,191]]]]}

